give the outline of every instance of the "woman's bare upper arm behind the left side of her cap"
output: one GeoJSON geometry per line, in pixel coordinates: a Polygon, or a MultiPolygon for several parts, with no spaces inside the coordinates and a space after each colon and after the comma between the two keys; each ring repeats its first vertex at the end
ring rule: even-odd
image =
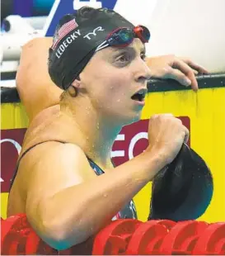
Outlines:
{"type": "Polygon", "coordinates": [[[29,120],[59,103],[63,92],[50,79],[47,61],[52,37],[36,38],[23,46],[16,73],[16,88],[29,120]]]}

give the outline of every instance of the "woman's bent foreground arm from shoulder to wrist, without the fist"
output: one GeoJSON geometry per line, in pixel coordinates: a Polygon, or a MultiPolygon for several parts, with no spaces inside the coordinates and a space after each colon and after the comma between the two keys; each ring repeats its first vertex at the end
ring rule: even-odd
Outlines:
{"type": "Polygon", "coordinates": [[[32,149],[24,161],[34,164],[20,168],[27,169],[29,184],[26,216],[40,238],[55,249],[95,235],[164,165],[157,152],[145,153],[96,176],[76,145],[53,144],[32,149]]]}

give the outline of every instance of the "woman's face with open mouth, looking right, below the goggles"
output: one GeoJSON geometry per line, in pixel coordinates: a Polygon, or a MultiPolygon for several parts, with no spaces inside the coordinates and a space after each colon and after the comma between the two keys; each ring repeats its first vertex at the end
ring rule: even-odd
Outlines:
{"type": "Polygon", "coordinates": [[[140,119],[150,78],[144,58],[143,43],[134,39],[125,48],[108,47],[96,52],[80,74],[87,97],[105,118],[124,124],[140,119]]]}

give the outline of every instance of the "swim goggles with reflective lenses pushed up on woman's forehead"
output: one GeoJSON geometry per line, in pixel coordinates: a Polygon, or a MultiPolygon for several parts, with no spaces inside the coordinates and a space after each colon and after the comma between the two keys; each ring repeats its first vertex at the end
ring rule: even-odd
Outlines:
{"type": "Polygon", "coordinates": [[[106,36],[105,41],[97,46],[96,51],[108,46],[126,47],[133,42],[134,38],[139,38],[143,44],[148,43],[150,31],[145,26],[135,26],[134,29],[119,27],[106,36]]]}

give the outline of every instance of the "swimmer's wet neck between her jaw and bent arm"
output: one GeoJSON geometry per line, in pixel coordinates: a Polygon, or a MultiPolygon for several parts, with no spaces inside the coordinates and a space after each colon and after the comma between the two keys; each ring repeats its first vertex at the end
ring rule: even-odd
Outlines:
{"type": "Polygon", "coordinates": [[[111,168],[111,149],[122,125],[100,116],[93,107],[77,107],[73,111],[63,107],[61,113],[71,122],[72,135],[84,153],[102,168],[111,168]]]}

